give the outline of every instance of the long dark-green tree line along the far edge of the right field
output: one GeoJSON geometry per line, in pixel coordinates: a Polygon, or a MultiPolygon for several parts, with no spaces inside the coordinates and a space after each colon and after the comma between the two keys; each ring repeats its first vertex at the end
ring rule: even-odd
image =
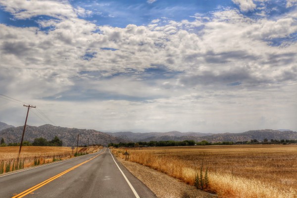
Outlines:
{"type": "Polygon", "coordinates": [[[206,140],[194,141],[194,140],[183,140],[183,141],[138,141],[138,142],[120,142],[120,143],[109,143],[108,146],[113,147],[147,147],[147,146],[204,146],[204,145],[233,145],[233,144],[289,144],[297,143],[297,139],[271,139],[268,141],[265,138],[263,141],[258,141],[257,139],[251,139],[250,141],[219,141],[219,142],[209,142],[206,140]]]}

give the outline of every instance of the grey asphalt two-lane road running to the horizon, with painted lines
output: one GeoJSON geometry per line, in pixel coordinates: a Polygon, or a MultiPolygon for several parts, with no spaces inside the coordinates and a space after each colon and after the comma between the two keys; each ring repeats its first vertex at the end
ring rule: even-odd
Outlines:
{"type": "Polygon", "coordinates": [[[0,198],[156,198],[104,148],[0,176],[0,198]]]}

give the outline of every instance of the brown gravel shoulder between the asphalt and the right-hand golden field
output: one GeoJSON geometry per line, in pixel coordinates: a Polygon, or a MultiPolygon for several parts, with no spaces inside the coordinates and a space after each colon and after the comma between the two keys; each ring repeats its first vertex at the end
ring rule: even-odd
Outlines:
{"type": "Polygon", "coordinates": [[[214,194],[199,191],[195,187],[187,185],[165,173],[135,162],[125,161],[119,157],[117,159],[135,177],[142,181],[157,198],[217,198],[214,194]]]}

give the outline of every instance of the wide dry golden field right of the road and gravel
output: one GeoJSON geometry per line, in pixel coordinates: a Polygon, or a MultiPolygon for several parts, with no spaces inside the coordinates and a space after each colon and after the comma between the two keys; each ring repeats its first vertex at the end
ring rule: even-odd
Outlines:
{"type": "MultiPolygon", "coordinates": [[[[124,149],[113,149],[121,157],[124,149]]],[[[193,185],[208,166],[209,188],[221,198],[297,198],[297,145],[231,145],[128,149],[129,160],[193,185]]]]}

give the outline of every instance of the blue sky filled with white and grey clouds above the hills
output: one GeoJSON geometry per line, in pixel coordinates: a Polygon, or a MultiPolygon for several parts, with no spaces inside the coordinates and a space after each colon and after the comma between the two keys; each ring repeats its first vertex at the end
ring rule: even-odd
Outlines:
{"type": "Polygon", "coordinates": [[[297,0],[0,0],[0,122],[297,131],[297,0]]]}

